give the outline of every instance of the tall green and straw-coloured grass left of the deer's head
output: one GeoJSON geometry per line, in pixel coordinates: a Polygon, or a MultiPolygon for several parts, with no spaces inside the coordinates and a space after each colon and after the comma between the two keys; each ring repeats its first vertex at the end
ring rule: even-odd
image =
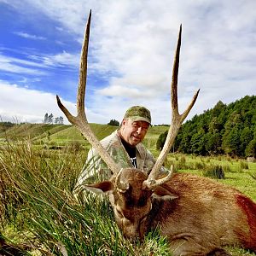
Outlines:
{"type": "Polygon", "coordinates": [[[106,197],[75,200],[72,190],[85,157],[84,151],[38,150],[29,141],[5,145],[2,236],[29,244],[29,255],[170,255],[157,233],[142,243],[125,240],[106,197]]]}

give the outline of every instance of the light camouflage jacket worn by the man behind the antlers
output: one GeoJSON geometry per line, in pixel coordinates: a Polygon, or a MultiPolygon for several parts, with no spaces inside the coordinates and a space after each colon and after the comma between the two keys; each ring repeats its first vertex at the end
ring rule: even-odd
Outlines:
{"type": "MultiPolygon", "coordinates": [[[[113,131],[108,137],[105,137],[101,141],[103,148],[106,148],[108,154],[113,157],[113,160],[121,168],[134,168],[131,164],[130,156],[126,152],[121,139],[119,136],[119,131],[113,131]]],[[[141,169],[142,172],[148,174],[155,163],[153,155],[148,151],[147,148],[143,146],[142,143],[136,146],[136,158],[137,158],[137,168],[141,169]]],[[[162,167],[161,173],[166,173],[167,170],[162,167]]],[[[82,192],[83,184],[96,183],[102,180],[109,179],[113,173],[108,169],[108,166],[102,160],[99,154],[97,154],[94,148],[91,148],[87,160],[85,162],[84,168],[79,175],[78,182],[76,183],[75,189],[73,191],[74,195],[78,195],[82,192]]]]}

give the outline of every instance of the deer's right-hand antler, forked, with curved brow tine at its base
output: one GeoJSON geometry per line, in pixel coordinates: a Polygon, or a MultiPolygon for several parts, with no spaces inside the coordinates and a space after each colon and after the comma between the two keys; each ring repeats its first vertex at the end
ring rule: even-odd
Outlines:
{"type": "Polygon", "coordinates": [[[169,128],[166,143],[162,148],[158,159],[156,160],[152,171],[148,175],[148,179],[144,181],[143,187],[147,187],[148,189],[154,189],[154,187],[166,183],[166,181],[172,178],[173,167],[171,171],[167,174],[166,177],[156,179],[158,173],[160,171],[160,167],[163,165],[164,160],[166,159],[167,154],[172,148],[172,144],[174,143],[175,137],[177,136],[177,131],[183,123],[183,120],[188,116],[189,111],[193,108],[196,98],[199,94],[199,90],[196,91],[195,96],[193,96],[192,101],[190,102],[188,108],[182,113],[178,113],[177,106],[177,75],[178,75],[178,64],[179,64],[179,53],[181,46],[181,34],[182,34],[182,26],[180,26],[178,38],[177,38],[177,48],[173,61],[172,68],[172,124],[169,128]]]}

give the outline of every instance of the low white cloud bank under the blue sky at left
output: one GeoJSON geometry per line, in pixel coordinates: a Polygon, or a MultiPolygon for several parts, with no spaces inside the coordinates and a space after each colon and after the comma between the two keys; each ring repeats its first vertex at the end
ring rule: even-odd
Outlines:
{"type": "MultiPolygon", "coordinates": [[[[1,101],[0,118],[3,121],[41,123],[45,113],[53,113],[54,117],[64,117],[65,124],[69,124],[64,113],[58,108],[55,95],[39,90],[29,90],[17,84],[7,84],[0,80],[1,101]]],[[[60,95],[61,96],[61,95],[60,95]]],[[[65,107],[76,115],[73,102],[61,99],[65,107]]],[[[89,121],[101,123],[103,115],[86,110],[89,121]]],[[[110,119],[105,119],[110,120],[110,119]]]]}

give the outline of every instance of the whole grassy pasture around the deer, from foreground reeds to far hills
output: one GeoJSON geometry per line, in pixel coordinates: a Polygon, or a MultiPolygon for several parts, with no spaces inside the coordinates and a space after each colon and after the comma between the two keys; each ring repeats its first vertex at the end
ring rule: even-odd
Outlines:
{"type": "MultiPolygon", "coordinates": [[[[117,128],[92,127],[100,139],[117,128]]],[[[155,142],[165,129],[153,126],[145,139],[155,156],[159,154],[155,142]]],[[[29,247],[27,255],[171,255],[157,230],[143,242],[125,240],[103,196],[88,194],[82,205],[75,201],[73,186],[90,145],[74,127],[26,125],[0,136],[5,137],[0,151],[1,237],[29,247]]],[[[224,179],[218,181],[256,201],[256,163],[224,156],[169,154],[165,165],[172,164],[177,172],[198,175],[205,175],[209,166],[221,166],[224,179]]],[[[236,256],[255,255],[236,247],[228,251],[236,256]]]]}

